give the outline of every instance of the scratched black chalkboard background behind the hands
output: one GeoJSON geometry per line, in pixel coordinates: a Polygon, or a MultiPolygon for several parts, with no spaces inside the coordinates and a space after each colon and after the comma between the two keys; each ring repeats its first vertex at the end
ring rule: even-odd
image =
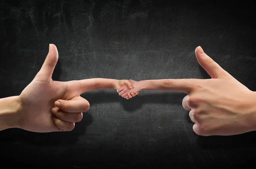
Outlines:
{"type": "MultiPolygon", "coordinates": [[[[53,80],[180,79],[209,76],[201,45],[225,70],[256,90],[255,7],[221,0],[0,1],[0,97],[19,95],[40,70],[49,43],[59,52],[53,80]]],[[[37,168],[243,168],[256,133],[201,137],[184,93],[115,90],[81,95],[90,110],[71,132],[0,132],[0,164],[37,168]]],[[[0,167],[2,168],[2,167],[0,167]]]]}

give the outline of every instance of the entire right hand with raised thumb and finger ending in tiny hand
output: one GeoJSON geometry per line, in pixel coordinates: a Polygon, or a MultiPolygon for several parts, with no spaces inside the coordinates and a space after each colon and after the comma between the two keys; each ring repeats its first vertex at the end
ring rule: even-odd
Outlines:
{"type": "Polygon", "coordinates": [[[211,79],[130,80],[132,89],[122,86],[117,91],[126,99],[140,90],[186,93],[182,105],[189,111],[198,135],[237,135],[256,130],[256,92],[221,68],[200,46],[195,55],[211,79]]]}

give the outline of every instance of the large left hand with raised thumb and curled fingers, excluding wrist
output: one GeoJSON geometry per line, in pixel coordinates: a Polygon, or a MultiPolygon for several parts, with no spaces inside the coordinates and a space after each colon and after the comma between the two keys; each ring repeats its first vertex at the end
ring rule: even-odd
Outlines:
{"type": "Polygon", "coordinates": [[[57,61],[57,48],[51,44],[41,70],[18,96],[18,128],[32,132],[70,131],[75,122],[81,121],[82,112],[89,109],[89,102],[80,96],[85,90],[84,81],[52,80],[57,61]]]}

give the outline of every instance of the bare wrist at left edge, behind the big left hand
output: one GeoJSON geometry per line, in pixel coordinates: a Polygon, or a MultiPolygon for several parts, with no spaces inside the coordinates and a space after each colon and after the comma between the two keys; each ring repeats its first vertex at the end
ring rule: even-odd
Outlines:
{"type": "Polygon", "coordinates": [[[19,124],[19,111],[19,96],[11,96],[0,99],[0,130],[17,128],[19,124]]]}

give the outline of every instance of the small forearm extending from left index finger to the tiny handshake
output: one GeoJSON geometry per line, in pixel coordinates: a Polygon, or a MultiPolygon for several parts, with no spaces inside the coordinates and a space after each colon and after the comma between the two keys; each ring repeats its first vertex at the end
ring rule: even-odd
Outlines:
{"type": "Polygon", "coordinates": [[[93,79],[84,79],[79,81],[81,82],[82,88],[86,89],[85,91],[92,90],[102,90],[102,89],[116,89],[116,84],[118,80],[116,79],[104,79],[104,78],[93,78],[93,79]],[[84,83],[85,81],[85,83],[84,83]],[[84,86],[86,84],[86,86],[84,86]]]}

